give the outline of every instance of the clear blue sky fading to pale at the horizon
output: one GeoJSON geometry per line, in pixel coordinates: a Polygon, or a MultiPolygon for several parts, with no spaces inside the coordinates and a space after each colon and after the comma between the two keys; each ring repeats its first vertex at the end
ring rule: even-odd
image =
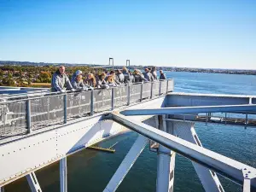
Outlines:
{"type": "Polygon", "coordinates": [[[0,60],[256,69],[256,0],[0,0],[0,60]]]}

